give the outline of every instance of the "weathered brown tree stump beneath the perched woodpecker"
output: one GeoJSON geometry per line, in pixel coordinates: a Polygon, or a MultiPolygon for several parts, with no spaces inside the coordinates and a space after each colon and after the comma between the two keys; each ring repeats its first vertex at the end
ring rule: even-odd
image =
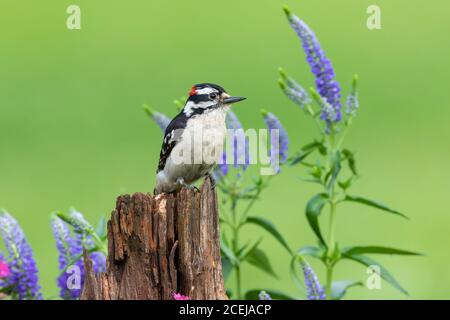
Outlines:
{"type": "Polygon", "coordinates": [[[228,299],[222,276],[217,194],[135,193],[117,198],[108,222],[106,273],[94,275],[85,253],[81,300],[228,299]]]}

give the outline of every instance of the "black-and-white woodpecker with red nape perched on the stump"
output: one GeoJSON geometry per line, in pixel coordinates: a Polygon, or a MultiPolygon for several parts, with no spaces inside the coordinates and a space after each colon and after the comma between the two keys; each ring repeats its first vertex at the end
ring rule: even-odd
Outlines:
{"type": "Polygon", "coordinates": [[[227,111],[245,99],[213,83],[191,87],[183,109],[164,132],[154,194],[194,188],[192,183],[212,171],[223,152],[227,111]]]}

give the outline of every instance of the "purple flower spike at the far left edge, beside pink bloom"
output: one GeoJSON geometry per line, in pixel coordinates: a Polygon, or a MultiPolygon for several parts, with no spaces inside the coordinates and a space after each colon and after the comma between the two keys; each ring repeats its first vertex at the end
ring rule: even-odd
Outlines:
{"type": "Polygon", "coordinates": [[[33,252],[19,224],[9,213],[0,214],[0,231],[9,253],[10,275],[4,283],[5,287],[11,287],[8,294],[19,300],[42,299],[33,252]]]}

